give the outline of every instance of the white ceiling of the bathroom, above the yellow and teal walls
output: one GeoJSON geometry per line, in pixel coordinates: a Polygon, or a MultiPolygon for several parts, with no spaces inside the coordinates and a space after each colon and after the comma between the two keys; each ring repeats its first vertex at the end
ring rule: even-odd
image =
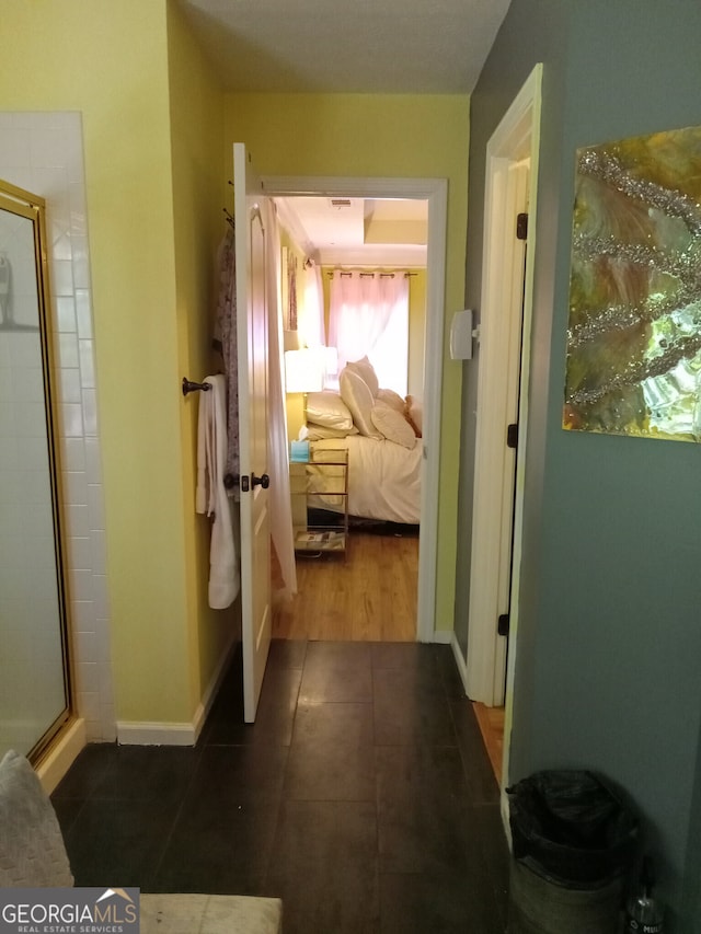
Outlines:
{"type": "Polygon", "coordinates": [[[469,94],[510,0],[180,0],[228,91],[469,94]]]}

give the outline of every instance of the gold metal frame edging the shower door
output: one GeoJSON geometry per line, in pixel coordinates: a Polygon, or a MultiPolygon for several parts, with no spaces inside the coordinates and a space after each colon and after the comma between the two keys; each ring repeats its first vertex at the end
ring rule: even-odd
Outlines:
{"type": "Polygon", "coordinates": [[[32,222],[34,234],[34,266],[36,272],[37,312],[39,348],[42,355],[44,413],[46,417],[46,441],[48,456],[48,474],[51,499],[51,522],[54,528],[54,553],[56,558],[56,597],[60,630],[61,665],[64,672],[65,706],[46,730],[26,753],[32,764],[36,765],[48,752],[53,741],[76,716],[73,704],[73,671],[70,654],[70,621],[69,600],[67,595],[66,575],[66,542],[64,524],[60,516],[61,484],[60,484],[60,452],[57,445],[59,437],[56,400],[54,397],[53,378],[54,348],[50,339],[50,290],[46,238],[46,201],[38,195],[0,180],[0,209],[24,217],[32,222]]]}

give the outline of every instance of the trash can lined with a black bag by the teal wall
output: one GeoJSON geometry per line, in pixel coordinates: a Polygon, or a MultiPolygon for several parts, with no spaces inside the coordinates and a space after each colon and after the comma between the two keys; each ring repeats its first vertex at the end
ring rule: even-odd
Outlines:
{"type": "Polygon", "coordinates": [[[616,934],[637,820],[593,772],[537,772],[510,788],[509,934],[616,934]]]}

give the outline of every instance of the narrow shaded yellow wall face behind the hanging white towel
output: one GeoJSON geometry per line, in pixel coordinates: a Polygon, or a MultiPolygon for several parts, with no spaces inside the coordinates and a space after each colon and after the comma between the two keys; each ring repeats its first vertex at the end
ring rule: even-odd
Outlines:
{"type": "MultiPolygon", "coordinates": [[[[232,209],[223,160],[223,94],[182,13],[169,5],[170,114],[175,232],[177,373],[200,381],[217,372],[212,355],[216,255],[232,209]]],[[[222,654],[240,630],[239,603],[211,610],[207,600],[210,520],[195,514],[198,393],[180,408],[191,703],[196,707],[222,654]]]]}

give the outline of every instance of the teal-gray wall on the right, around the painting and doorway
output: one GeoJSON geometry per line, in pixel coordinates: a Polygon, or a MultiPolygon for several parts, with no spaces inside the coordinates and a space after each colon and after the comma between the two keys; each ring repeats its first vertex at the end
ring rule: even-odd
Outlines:
{"type": "MultiPolygon", "coordinates": [[[[701,446],[567,433],[561,412],[575,150],[700,124],[700,43],[698,0],[513,0],[472,100],[467,257],[479,309],[486,142],[542,61],[509,777],[587,766],[624,788],[660,863],[669,930],[685,934],[701,930],[701,446]]],[[[466,364],[462,567],[478,367],[466,364]]],[[[456,606],[462,641],[464,586],[456,606]]]]}

